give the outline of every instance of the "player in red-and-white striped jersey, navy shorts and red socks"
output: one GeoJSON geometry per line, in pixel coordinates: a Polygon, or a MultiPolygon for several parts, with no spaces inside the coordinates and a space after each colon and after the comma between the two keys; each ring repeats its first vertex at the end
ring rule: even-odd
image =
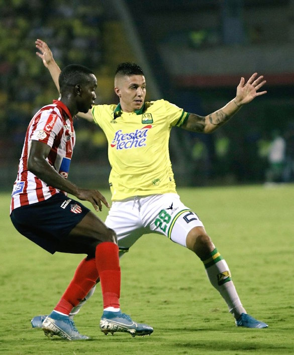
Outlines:
{"type": "Polygon", "coordinates": [[[73,126],[78,112],[87,112],[96,98],[97,81],[81,65],[66,66],[59,76],[60,98],[42,107],[32,118],[25,136],[17,179],[11,200],[11,220],[28,239],[50,253],[87,254],[54,310],[45,318],[46,335],[84,340],[69,317],[99,278],[104,312],[104,333],[129,332],[132,336],[152,333],[146,324],[132,321],[120,310],[121,270],[116,233],[80,200],[96,211],[109,203],[97,190],[84,189],[67,179],[75,144],[73,126]]]}

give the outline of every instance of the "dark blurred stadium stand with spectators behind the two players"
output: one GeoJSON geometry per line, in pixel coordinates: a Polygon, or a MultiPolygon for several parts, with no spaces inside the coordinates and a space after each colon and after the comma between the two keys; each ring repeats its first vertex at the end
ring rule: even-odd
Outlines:
{"type": "MultiPolygon", "coordinates": [[[[267,95],[214,134],[172,130],[175,176],[178,185],[263,182],[278,130],[287,143],[284,181],[293,181],[294,0],[12,0],[0,1],[0,13],[2,189],[12,187],[32,115],[58,97],[35,55],[36,38],[61,67],[93,69],[97,103],[118,102],[113,76],[126,60],[142,65],[148,99],[163,97],[201,115],[233,98],[241,76],[265,75],[267,95]]],[[[71,180],[106,187],[104,133],[81,119],[75,126],[71,180]]]]}

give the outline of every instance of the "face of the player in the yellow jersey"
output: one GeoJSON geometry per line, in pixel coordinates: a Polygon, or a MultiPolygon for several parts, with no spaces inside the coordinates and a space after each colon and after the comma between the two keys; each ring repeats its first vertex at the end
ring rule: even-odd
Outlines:
{"type": "Polygon", "coordinates": [[[146,96],[146,81],[143,75],[121,77],[116,80],[115,92],[120,98],[122,110],[133,112],[139,110],[146,96]]]}

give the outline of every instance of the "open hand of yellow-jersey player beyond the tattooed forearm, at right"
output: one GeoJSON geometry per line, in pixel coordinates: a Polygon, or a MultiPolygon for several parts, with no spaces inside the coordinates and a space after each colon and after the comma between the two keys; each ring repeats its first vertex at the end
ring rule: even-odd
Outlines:
{"type": "Polygon", "coordinates": [[[266,91],[258,91],[265,83],[266,80],[263,79],[263,75],[257,78],[257,73],[254,73],[247,83],[242,77],[237,86],[236,104],[240,106],[248,104],[255,97],[266,94],[266,91]]]}

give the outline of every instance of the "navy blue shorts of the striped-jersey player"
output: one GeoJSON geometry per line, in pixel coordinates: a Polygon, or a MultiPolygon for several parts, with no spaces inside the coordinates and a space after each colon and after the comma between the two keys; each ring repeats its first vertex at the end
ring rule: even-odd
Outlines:
{"type": "Polygon", "coordinates": [[[10,217],[22,235],[54,254],[66,252],[64,240],[88,212],[80,202],[57,193],[45,201],[14,209],[10,217]]]}

